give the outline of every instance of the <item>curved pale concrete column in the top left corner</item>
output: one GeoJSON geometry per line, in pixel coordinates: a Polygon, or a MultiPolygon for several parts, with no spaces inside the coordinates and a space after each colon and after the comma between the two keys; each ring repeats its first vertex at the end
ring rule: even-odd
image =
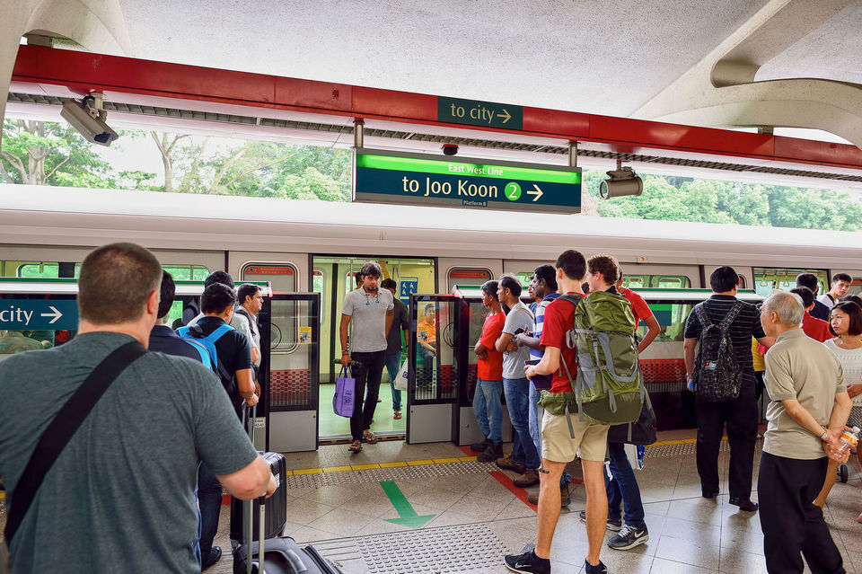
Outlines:
{"type": "Polygon", "coordinates": [[[119,0],[0,0],[0,119],[18,46],[29,32],[68,38],[92,52],[132,55],[119,0]]]}

